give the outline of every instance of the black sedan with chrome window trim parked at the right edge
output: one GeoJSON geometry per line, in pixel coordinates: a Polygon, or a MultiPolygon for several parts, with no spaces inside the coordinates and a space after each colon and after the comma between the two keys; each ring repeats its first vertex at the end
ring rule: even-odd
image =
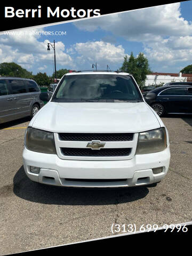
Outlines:
{"type": "Polygon", "coordinates": [[[159,116],[192,114],[192,85],[161,86],[144,97],[159,116]]]}

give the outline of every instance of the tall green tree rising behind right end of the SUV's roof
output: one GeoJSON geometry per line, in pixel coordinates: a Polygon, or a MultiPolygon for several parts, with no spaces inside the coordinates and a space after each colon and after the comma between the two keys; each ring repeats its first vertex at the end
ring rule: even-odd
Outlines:
{"type": "Polygon", "coordinates": [[[132,74],[139,86],[145,85],[146,76],[151,73],[148,59],[142,52],[137,58],[134,57],[133,52],[131,52],[129,59],[126,55],[121,71],[132,74]]]}

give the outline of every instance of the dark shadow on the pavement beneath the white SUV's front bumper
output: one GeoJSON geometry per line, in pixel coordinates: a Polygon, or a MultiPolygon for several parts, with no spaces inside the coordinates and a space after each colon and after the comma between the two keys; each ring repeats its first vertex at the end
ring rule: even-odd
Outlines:
{"type": "Polygon", "coordinates": [[[30,202],[57,205],[109,205],[133,202],[149,193],[147,187],[121,189],[80,189],[47,186],[27,177],[23,166],[13,179],[13,192],[30,202]]]}

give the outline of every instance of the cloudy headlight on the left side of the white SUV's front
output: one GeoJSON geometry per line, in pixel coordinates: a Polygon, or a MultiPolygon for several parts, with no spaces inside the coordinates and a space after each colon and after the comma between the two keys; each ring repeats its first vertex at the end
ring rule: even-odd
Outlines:
{"type": "Polygon", "coordinates": [[[54,136],[52,132],[28,127],[26,131],[25,146],[31,151],[56,154],[54,136]]]}

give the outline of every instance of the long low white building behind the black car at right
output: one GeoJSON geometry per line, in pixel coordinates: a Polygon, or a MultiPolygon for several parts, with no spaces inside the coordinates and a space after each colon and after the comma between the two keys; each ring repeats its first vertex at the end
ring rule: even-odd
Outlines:
{"type": "Polygon", "coordinates": [[[147,75],[145,86],[163,85],[170,82],[192,82],[192,74],[178,73],[151,73],[147,75]]]}

